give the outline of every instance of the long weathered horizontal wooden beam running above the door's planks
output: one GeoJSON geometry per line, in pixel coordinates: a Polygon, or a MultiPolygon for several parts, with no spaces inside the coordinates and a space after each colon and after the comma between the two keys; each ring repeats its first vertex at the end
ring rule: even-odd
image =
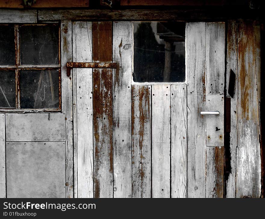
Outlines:
{"type": "Polygon", "coordinates": [[[158,10],[158,9],[89,9],[89,10],[39,10],[39,21],[51,20],[174,20],[198,21],[225,19],[258,19],[258,11],[215,8],[212,10],[158,10]]]}

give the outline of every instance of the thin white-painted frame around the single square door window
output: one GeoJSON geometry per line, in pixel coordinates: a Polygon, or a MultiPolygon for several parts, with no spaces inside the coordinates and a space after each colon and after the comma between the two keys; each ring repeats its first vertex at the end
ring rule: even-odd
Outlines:
{"type": "MultiPolygon", "coordinates": [[[[138,20],[135,20],[138,21],[138,20]]],[[[139,20],[141,22],[167,22],[168,20],[139,20]]],[[[184,22],[185,24],[187,22],[184,22]]],[[[131,26],[133,29],[133,33],[134,33],[134,26],[133,26],[133,21],[131,21],[131,26]]],[[[187,82],[187,62],[186,62],[186,54],[187,54],[187,48],[186,48],[186,28],[185,28],[185,81],[181,81],[181,82],[136,82],[133,81],[133,73],[134,73],[134,34],[132,34],[132,43],[133,43],[133,47],[132,47],[132,74],[131,74],[131,84],[135,84],[135,85],[155,85],[155,84],[176,84],[176,85],[183,85],[183,84],[188,84],[187,82]]]]}

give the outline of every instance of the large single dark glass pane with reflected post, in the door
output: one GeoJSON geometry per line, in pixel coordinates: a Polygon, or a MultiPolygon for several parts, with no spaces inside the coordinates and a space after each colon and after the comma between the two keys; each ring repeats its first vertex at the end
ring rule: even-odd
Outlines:
{"type": "Polygon", "coordinates": [[[133,27],[133,81],[185,81],[185,23],[133,22],[133,27]]]}

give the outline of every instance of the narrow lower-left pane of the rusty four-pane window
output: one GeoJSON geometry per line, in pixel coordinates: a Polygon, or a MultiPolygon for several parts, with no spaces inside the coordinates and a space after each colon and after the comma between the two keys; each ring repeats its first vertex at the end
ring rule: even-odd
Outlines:
{"type": "Polygon", "coordinates": [[[0,108],[16,107],[15,71],[0,71],[0,108]]]}

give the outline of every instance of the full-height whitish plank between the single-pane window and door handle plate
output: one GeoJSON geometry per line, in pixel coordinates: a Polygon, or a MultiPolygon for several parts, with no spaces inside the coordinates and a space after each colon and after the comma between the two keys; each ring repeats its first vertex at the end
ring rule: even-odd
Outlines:
{"type": "Polygon", "coordinates": [[[187,77],[187,192],[188,198],[205,197],[205,23],[186,24],[187,77]]]}

